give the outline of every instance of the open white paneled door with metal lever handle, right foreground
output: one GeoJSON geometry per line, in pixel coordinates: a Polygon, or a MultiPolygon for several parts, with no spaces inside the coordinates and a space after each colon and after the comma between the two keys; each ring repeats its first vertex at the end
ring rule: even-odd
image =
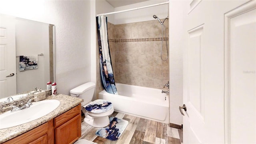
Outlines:
{"type": "MultiPolygon", "coordinates": [[[[250,6],[247,6],[247,2],[245,0],[192,0],[187,1],[187,4],[183,7],[184,39],[186,43],[183,51],[183,102],[186,105],[186,112],[182,110],[184,112],[184,143],[242,142],[236,140],[236,138],[244,139],[245,134],[243,133],[248,134],[246,138],[250,137],[250,142],[256,142],[256,13],[255,0],[249,2],[250,6]],[[252,10],[253,8],[254,10],[252,10]],[[229,12],[233,12],[231,16],[229,12]],[[227,15],[230,24],[226,24],[225,17],[227,15]],[[232,19],[233,16],[236,17],[235,20],[232,19]],[[225,40],[226,37],[224,38],[227,35],[229,36],[228,41],[225,40]],[[230,52],[230,62],[227,63],[230,64],[230,73],[228,74],[225,71],[228,67],[226,64],[228,59],[226,58],[226,44],[230,44],[230,51],[228,51],[230,52]],[[233,47],[236,48],[235,52],[233,47]],[[245,65],[248,63],[249,66],[246,67],[245,65]],[[242,75],[243,70],[250,71],[252,74],[249,74],[250,76],[246,77],[247,79],[236,77],[236,72],[242,75]],[[229,85],[226,76],[230,76],[229,85]],[[236,89],[234,87],[239,87],[244,83],[246,85],[239,88],[236,96],[231,94],[230,100],[226,100],[227,86],[231,86],[232,93],[236,89]],[[250,92],[246,91],[246,86],[250,87],[250,92]],[[243,94],[243,92],[245,93],[243,94]],[[250,97],[246,100],[249,103],[243,102],[244,95],[250,97]],[[250,100],[252,101],[250,102],[250,100]],[[227,105],[227,103],[230,105],[227,105]],[[252,112],[250,114],[246,112],[250,109],[249,107],[251,108],[249,113],[252,112]],[[230,116],[226,112],[229,109],[230,116]],[[236,111],[238,109],[239,111],[236,111]],[[240,113],[243,112],[247,114],[248,119],[250,117],[253,119],[241,118],[240,113]],[[230,121],[227,121],[226,117],[229,117],[230,121]],[[242,123],[240,123],[241,120],[242,123]],[[244,128],[242,130],[236,129],[235,126],[237,125],[240,125],[239,128],[244,128]],[[250,132],[254,132],[252,134],[246,132],[246,129],[250,126],[253,127],[249,128],[250,132]]],[[[245,114],[242,114],[242,116],[245,116],[245,114]]]]}

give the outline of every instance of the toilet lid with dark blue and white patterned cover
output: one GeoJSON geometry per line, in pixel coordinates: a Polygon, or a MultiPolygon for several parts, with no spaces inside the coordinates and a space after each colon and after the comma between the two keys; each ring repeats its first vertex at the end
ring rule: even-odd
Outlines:
{"type": "Polygon", "coordinates": [[[106,112],[111,108],[113,108],[113,105],[111,102],[98,99],[98,100],[94,100],[88,106],[86,106],[85,110],[93,113],[101,113],[101,112],[106,112]]]}

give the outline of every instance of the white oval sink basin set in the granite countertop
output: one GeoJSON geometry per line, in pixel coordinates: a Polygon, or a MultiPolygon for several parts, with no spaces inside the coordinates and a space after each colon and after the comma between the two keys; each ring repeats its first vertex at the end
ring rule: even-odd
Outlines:
{"type": "Polygon", "coordinates": [[[10,128],[31,122],[38,118],[49,114],[55,110],[59,105],[58,100],[42,100],[39,102],[33,102],[33,105],[29,108],[24,108],[16,112],[6,112],[0,115],[0,129],[10,128]]]}

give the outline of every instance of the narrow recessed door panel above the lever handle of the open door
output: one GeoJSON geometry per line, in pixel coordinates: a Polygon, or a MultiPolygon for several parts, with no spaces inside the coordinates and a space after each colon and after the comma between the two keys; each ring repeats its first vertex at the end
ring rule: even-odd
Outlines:
{"type": "Polygon", "coordinates": [[[203,25],[188,31],[188,102],[195,112],[204,117],[203,98],[201,92],[201,47],[203,38],[203,25]]]}

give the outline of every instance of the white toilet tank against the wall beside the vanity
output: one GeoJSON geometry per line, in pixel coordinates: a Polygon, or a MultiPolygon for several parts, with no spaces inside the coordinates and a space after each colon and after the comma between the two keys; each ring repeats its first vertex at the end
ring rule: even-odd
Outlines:
{"type": "Polygon", "coordinates": [[[94,89],[95,84],[93,82],[87,82],[70,90],[70,96],[82,98],[84,100],[84,102],[82,102],[82,106],[84,106],[88,102],[92,101],[94,89]]]}

